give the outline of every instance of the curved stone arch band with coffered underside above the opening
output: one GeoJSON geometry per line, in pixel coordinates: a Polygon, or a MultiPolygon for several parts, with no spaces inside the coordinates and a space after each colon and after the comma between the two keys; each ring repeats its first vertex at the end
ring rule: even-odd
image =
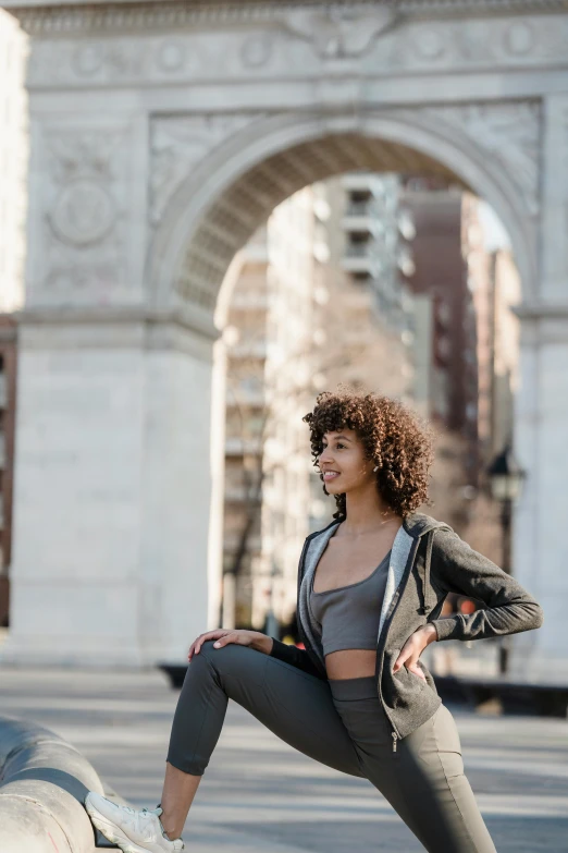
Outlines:
{"type": "MultiPolygon", "coordinates": [[[[185,175],[150,247],[148,287],[159,303],[190,303],[199,293],[212,308],[235,252],[277,204],[306,183],[361,168],[439,174],[490,202],[511,235],[530,297],[536,219],[506,158],[487,159],[483,139],[433,110],[384,110],[354,120],[348,113],[318,117],[314,105],[313,113],[255,118],[185,175]],[[214,257],[208,258],[212,234],[214,257]]],[[[459,120],[459,108],[452,118],[459,120]]]]}

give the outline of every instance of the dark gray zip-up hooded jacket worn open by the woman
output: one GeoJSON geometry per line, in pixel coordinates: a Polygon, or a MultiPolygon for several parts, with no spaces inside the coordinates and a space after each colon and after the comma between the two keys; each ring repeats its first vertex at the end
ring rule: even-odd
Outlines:
{"type": "MultiPolygon", "coordinates": [[[[310,609],[309,588],[318,561],[339,524],[307,537],[298,568],[297,622],[305,649],[273,637],[271,656],[320,679],[328,679],[321,633],[310,609]]],[[[418,729],[437,709],[434,679],[419,661],[425,681],[406,666],[393,672],[411,634],[431,622],[437,639],[482,639],[531,631],[543,623],[543,610],[509,574],[465,543],[448,524],[422,513],[408,515],[396,534],[376,641],[378,695],[396,741],[418,729]],[[476,598],[485,608],[439,619],[447,593],[476,598]]]]}

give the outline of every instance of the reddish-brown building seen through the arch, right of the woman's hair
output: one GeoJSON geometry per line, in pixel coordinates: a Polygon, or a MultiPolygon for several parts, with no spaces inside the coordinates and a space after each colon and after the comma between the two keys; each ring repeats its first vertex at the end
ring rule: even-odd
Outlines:
{"type": "Polygon", "coordinates": [[[416,235],[417,409],[433,425],[436,454],[430,512],[465,534],[479,473],[476,316],[461,242],[462,191],[408,178],[403,204],[416,235]]]}

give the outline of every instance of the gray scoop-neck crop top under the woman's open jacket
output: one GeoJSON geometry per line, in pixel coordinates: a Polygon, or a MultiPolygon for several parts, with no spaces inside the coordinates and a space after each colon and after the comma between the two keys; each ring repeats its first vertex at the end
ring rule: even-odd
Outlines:
{"type": "Polygon", "coordinates": [[[321,630],[324,655],[346,648],[376,648],[390,559],[391,551],[368,577],[322,593],[313,592],[312,573],[310,607],[321,630]]]}

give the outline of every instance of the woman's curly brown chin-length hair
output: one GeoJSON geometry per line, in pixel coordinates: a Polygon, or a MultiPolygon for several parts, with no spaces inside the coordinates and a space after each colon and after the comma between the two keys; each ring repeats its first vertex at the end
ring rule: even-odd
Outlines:
{"type": "MultiPolygon", "coordinates": [[[[317,468],[323,436],[354,429],[367,459],[379,466],[376,488],[384,502],[405,519],[422,503],[430,503],[429,470],[434,460],[432,428],[399,400],[360,391],[345,385],[318,394],[316,406],[302,418],[310,428],[311,455],[317,468]]],[[[320,472],[320,479],[323,476],[320,472]]],[[[325,495],[330,492],[323,485],[325,495]]],[[[335,495],[333,517],[347,517],[345,493],[335,495]]]]}

